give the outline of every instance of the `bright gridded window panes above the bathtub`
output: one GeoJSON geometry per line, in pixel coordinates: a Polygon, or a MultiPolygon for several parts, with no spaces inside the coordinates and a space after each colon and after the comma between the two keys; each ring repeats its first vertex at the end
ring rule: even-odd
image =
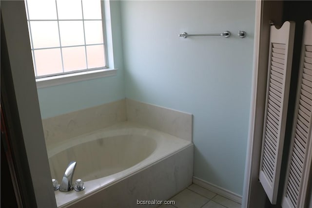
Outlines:
{"type": "Polygon", "coordinates": [[[36,78],[106,69],[101,0],[25,0],[36,78]]]}

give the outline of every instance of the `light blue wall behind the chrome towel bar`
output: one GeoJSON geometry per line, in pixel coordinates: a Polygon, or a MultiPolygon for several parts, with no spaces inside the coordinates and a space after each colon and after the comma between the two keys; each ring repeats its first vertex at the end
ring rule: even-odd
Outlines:
{"type": "Polygon", "coordinates": [[[242,194],[254,1],[122,1],[126,97],[194,114],[194,175],[242,194]],[[182,32],[230,38],[179,38],[182,32]],[[238,38],[238,30],[247,32],[238,38]]]}

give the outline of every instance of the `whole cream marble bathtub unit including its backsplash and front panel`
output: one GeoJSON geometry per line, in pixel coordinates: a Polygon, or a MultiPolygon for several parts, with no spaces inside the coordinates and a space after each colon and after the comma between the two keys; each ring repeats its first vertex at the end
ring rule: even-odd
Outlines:
{"type": "Polygon", "coordinates": [[[86,187],[55,191],[58,207],[142,207],[136,200],[185,189],[193,179],[192,122],[192,114],[129,99],[43,119],[52,178],[60,182],[75,160],[73,181],[86,187]]]}

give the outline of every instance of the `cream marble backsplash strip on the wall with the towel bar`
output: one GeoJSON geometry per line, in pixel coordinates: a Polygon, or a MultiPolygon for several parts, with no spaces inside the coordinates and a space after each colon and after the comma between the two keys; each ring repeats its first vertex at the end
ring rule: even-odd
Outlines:
{"type": "Polygon", "coordinates": [[[192,141],[193,115],[126,98],[127,119],[192,141]]]}

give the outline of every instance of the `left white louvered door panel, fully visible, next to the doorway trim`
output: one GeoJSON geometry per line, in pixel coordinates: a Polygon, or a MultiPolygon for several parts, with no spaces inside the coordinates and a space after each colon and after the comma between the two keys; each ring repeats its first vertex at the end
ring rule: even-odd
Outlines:
{"type": "Polygon", "coordinates": [[[294,22],[271,26],[267,98],[259,180],[276,203],[292,67],[294,22]]]}

